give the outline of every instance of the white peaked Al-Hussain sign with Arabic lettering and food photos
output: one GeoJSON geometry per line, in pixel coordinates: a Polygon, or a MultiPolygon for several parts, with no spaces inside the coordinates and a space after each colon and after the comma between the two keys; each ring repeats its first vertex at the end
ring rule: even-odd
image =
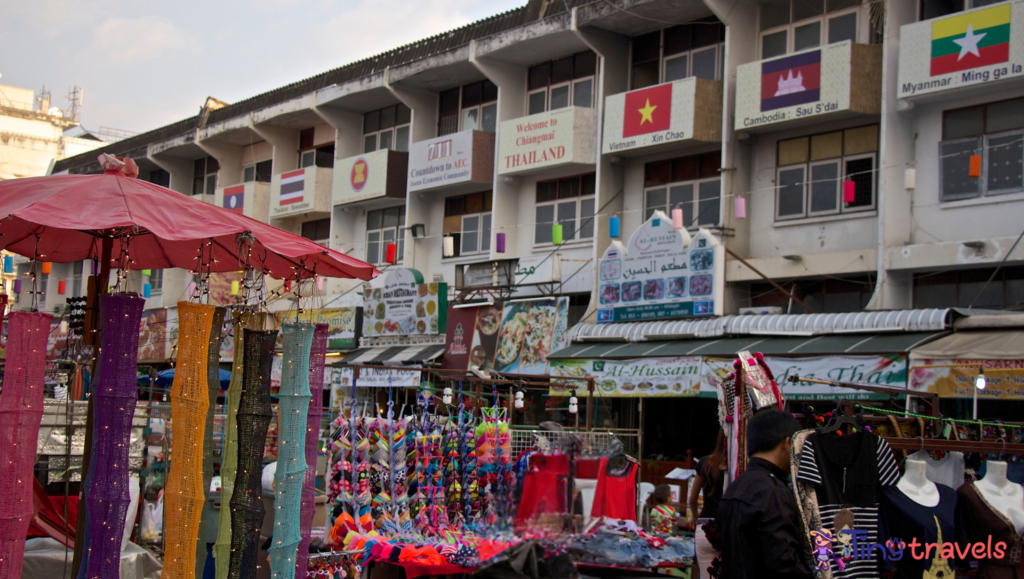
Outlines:
{"type": "Polygon", "coordinates": [[[707,230],[690,239],[655,211],[598,264],[598,322],[721,316],[725,249],[707,230]]]}

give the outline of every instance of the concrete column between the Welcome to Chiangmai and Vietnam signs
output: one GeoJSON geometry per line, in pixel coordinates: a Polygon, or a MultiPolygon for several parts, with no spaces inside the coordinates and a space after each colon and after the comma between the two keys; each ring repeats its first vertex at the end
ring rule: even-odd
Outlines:
{"type": "MultiPolygon", "coordinates": [[[[597,197],[594,210],[597,212],[594,228],[594,254],[592,270],[597,270],[597,262],[604,255],[604,250],[611,244],[608,236],[608,218],[620,215],[626,199],[625,177],[621,164],[612,164],[613,155],[601,154],[601,138],[604,134],[604,99],[612,94],[629,90],[630,75],[630,39],[603,30],[577,26],[577,9],[572,8],[572,30],[591,50],[598,55],[597,82],[597,197]]],[[[581,216],[582,218],[584,216],[581,216]]],[[[597,322],[598,276],[594,276],[594,286],[591,291],[590,306],[584,315],[585,322],[597,322]]]]}

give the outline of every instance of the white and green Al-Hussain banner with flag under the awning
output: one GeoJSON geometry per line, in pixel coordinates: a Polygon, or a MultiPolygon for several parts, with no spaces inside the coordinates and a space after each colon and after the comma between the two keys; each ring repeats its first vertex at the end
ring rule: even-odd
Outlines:
{"type": "MultiPolygon", "coordinates": [[[[599,397],[695,397],[700,391],[700,357],[637,360],[552,360],[550,374],[575,378],[577,396],[587,396],[587,378],[594,378],[599,397]]],[[[569,382],[573,384],[573,382],[569,382]]],[[[552,387],[552,395],[567,389],[552,387]]]]}

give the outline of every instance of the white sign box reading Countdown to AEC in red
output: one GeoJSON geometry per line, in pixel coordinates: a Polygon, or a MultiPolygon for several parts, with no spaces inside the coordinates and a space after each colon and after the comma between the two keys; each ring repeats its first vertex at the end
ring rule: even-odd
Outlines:
{"type": "MultiPolygon", "coordinates": [[[[414,142],[409,149],[409,191],[458,191],[495,178],[495,133],[467,130],[414,142]]],[[[477,188],[478,189],[478,188],[477,188]]]]}

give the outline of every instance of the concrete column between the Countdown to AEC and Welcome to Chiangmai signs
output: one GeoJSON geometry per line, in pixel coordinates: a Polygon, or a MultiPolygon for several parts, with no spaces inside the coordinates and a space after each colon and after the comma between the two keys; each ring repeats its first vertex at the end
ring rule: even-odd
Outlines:
{"type": "Polygon", "coordinates": [[[526,68],[476,56],[476,41],[469,44],[469,61],[498,86],[498,131],[495,144],[495,187],[492,202],[490,259],[518,257],[519,178],[498,174],[501,159],[501,123],[526,115],[526,68]],[[505,253],[495,241],[505,234],[505,253]]]}

